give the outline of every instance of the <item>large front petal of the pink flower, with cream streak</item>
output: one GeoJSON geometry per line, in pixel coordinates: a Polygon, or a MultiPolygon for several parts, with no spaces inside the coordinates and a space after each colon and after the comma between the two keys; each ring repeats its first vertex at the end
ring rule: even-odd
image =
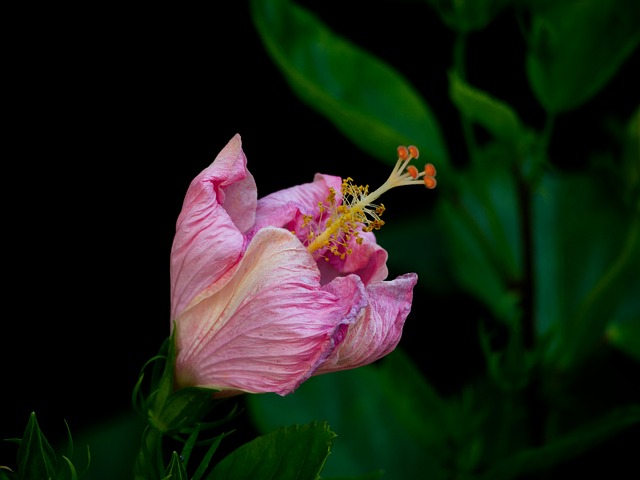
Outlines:
{"type": "Polygon", "coordinates": [[[176,320],[178,384],[290,393],[345,338],[366,301],[355,275],[321,289],[300,241],[261,229],[233,278],[176,320]]]}

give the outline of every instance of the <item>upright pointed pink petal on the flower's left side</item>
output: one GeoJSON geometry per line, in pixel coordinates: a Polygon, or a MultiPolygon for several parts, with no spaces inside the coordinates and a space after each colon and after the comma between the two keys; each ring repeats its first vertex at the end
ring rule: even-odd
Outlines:
{"type": "MultiPolygon", "coordinates": [[[[171,248],[171,318],[240,260],[254,223],[257,189],[240,136],[190,184],[171,248]]],[[[226,278],[226,277],[225,277],[226,278]]]]}

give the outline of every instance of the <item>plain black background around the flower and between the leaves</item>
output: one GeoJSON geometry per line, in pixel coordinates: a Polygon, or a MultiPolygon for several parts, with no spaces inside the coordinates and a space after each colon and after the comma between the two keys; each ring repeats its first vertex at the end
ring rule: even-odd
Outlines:
{"type": "MultiPolygon", "coordinates": [[[[206,10],[56,7],[12,16],[0,438],[21,436],[33,411],[56,438],[64,435],[63,420],[76,432],[130,410],[140,368],[169,333],[169,252],[182,198],[235,133],[260,196],[318,171],[372,185],[386,178],[387,166],[291,93],[246,2],[218,3],[206,10]]],[[[335,4],[317,11],[409,77],[438,116],[453,161],[464,163],[458,119],[444,95],[450,31],[418,2],[366,5],[357,22],[335,4]]],[[[469,76],[539,127],[520,38],[507,13],[472,36],[469,76]]],[[[587,107],[558,120],[562,145],[575,142],[572,155],[552,142],[557,165],[576,168],[571,159],[588,148],[585,138],[589,148],[609,141],[593,120],[630,113],[637,102],[616,92],[638,80],[627,66],[587,107]]],[[[411,215],[418,196],[426,209],[437,198],[407,195],[392,192],[385,200],[389,225],[394,216],[411,215]]],[[[476,302],[426,292],[414,310],[438,321],[408,321],[401,344],[439,388],[453,391],[481,371],[476,302]],[[442,340],[452,332],[463,338],[455,348],[442,340]]],[[[11,464],[15,450],[1,448],[0,464],[11,464]]]]}

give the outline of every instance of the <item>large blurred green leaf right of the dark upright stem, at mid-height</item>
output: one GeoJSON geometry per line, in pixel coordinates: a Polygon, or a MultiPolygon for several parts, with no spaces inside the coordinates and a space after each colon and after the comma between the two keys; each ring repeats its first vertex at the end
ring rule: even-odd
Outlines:
{"type": "Polygon", "coordinates": [[[548,175],[534,202],[536,323],[553,333],[547,362],[576,366],[609,322],[638,315],[640,216],[606,178],[548,175]]]}

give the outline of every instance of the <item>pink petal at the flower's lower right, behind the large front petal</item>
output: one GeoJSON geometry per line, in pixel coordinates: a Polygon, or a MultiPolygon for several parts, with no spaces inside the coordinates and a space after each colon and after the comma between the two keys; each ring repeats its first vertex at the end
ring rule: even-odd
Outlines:
{"type": "Polygon", "coordinates": [[[367,287],[369,306],[317,374],[361,367],[387,355],[398,345],[411,311],[415,273],[367,287]]]}

